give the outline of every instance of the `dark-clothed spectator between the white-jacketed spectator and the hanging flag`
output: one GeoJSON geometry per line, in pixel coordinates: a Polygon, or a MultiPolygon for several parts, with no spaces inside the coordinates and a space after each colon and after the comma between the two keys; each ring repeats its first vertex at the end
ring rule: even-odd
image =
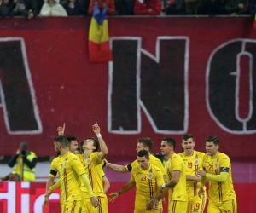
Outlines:
{"type": "Polygon", "coordinates": [[[64,9],[67,11],[68,16],[87,14],[87,11],[85,10],[85,6],[79,0],[63,0],[61,4],[64,7],[64,9]]]}

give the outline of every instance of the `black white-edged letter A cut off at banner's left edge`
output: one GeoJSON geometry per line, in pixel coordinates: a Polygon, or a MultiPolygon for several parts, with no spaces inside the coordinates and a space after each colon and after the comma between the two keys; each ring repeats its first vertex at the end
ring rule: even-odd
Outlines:
{"type": "MultiPolygon", "coordinates": [[[[7,72],[6,75],[3,75],[3,76],[7,76],[7,78],[9,78],[8,75],[13,75],[18,73],[22,75],[22,77],[24,76],[24,78],[19,78],[19,82],[16,82],[15,78],[12,78],[12,81],[10,83],[18,83],[20,85],[27,87],[28,88],[27,93],[29,93],[26,96],[24,94],[20,95],[19,89],[15,90],[15,88],[17,88],[16,85],[14,85],[14,89],[11,89],[11,91],[9,90],[5,91],[3,87],[4,84],[0,81],[0,97],[1,97],[0,107],[3,107],[3,116],[4,116],[4,122],[7,128],[7,131],[9,135],[41,134],[43,132],[43,126],[41,123],[41,119],[39,117],[36,94],[35,94],[35,90],[32,83],[31,72],[28,66],[25,41],[22,37],[4,37],[4,38],[1,37],[0,43],[6,44],[6,45],[2,45],[3,48],[0,49],[1,54],[6,52],[5,50],[8,49],[9,54],[13,54],[13,56],[15,55],[14,57],[20,57],[20,59],[23,60],[21,61],[20,66],[16,65],[17,68],[13,69],[14,73],[9,73],[8,70],[6,71],[5,70],[6,67],[4,66],[0,67],[2,69],[2,72],[7,72]],[[8,45],[8,43],[10,43],[10,45],[8,45]],[[19,43],[19,45],[13,46],[11,45],[11,43],[19,43]],[[13,103],[10,104],[9,99],[12,99],[14,95],[18,95],[18,94],[20,95],[19,96],[20,100],[17,101],[16,104],[13,104],[13,103]],[[27,107],[19,109],[19,111],[22,111],[22,113],[20,112],[20,115],[25,113],[27,118],[29,118],[29,121],[32,123],[30,124],[32,125],[32,127],[26,127],[26,124],[21,124],[21,123],[17,124],[19,122],[15,122],[15,119],[13,117],[19,120],[20,115],[19,113],[15,113],[15,114],[12,114],[12,113],[16,112],[16,109],[14,107],[17,107],[18,104],[26,104],[27,107]]],[[[9,54],[7,54],[6,57],[9,57],[9,54]]],[[[8,66],[9,68],[11,68],[11,64],[8,64],[9,63],[8,60],[6,61],[7,61],[6,62],[7,64],[5,66],[8,66]]]]}

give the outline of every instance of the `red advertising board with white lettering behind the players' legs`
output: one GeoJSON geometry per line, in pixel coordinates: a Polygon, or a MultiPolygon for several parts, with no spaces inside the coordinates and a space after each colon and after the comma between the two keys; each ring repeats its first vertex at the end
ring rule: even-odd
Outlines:
{"type": "MultiPolygon", "coordinates": [[[[125,183],[111,183],[109,193],[116,192],[125,183]]],[[[256,208],[253,196],[256,184],[235,184],[237,198],[237,212],[254,213],[256,208]],[[244,190],[244,189],[247,190],[244,190]]],[[[0,212],[3,213],[49,213],[61,212],[60,191],[51,194],[49,208],[43,208],[45,183],[5,182],[0,183],[0,212]]],[[[135,190],[124,193],[113,203],[108,203],[108,212],[131,213],[134,208],[135,190]]],[[[167,204],[164,213],[167,212],[167,204]]],[[[206,210],[205,210],[206,212],[206,210]]]]}

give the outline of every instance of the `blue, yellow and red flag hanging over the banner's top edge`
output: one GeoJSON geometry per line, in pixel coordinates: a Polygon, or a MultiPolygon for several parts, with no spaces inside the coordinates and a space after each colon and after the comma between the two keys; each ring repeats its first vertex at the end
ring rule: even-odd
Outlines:
{"type": "Polygon", "coordinates": [[[89,60],[93,63],[104,63],[113,60],[109,47],[107,7],[102,12],[94,3],[94,10],[89,29],[89,60]]]}

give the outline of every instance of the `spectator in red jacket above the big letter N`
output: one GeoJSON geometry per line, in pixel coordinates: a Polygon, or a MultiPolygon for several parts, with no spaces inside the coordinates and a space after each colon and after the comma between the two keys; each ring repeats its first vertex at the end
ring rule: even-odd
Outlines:
{"type": "Polygon", "coordinates": [[[136,15],[159,15],[161,7],[160,0],[136,0],[133,12],[136,15]]]}

